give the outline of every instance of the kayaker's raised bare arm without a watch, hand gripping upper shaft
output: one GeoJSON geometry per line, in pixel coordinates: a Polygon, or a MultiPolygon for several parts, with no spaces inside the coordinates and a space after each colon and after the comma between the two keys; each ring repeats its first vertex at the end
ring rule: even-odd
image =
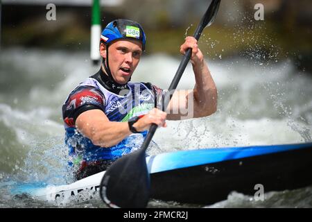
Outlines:
{"type": "Polygon", "coordinates": [[[182,54],[191,48],[196,84],[193,90],[176,90],[166,110],[168,120],[207,117],[216,112],[218,93],[202,52],[194,37],[187,37],[182,54]]]}

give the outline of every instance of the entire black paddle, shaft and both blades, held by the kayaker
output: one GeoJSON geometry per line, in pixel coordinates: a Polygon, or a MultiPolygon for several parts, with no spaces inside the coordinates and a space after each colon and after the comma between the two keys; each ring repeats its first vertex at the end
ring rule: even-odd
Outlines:
{"type": "MultiPolygon", "coordinates": [[[[214,22],[219,5],[220,0],[212,0],[210,2],[205,15],[202,17],[193,35],[196,40],[199,39],[203,29],[214,22]]],[[[169,86],[167,93],[170,96],[165,96],[165,109],[190,59],[191,49],[187,49],[169,86]]],[[[108,206],[146,207],[150,196],[150,178],[146,165],[146,148],[148,148],[156,130],[157,125],[152,124],[141,148],[128,155],[123,155],[123,157],[116,160],[105,172],[100,184],[100,196],[108,206]]]]}

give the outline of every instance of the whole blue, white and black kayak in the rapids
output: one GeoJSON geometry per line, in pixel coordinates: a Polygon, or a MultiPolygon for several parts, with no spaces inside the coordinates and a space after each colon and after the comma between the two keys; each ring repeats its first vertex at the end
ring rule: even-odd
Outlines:
{"type": "MultiPolygon", "coordinates": [[[[312,143],[176,151],[146,157],[146,163],[150,197],[180,203],[216,203],[231,191],[253,195],[258,184],[264,191],[312,185],[312,143]]],[[[18,190],[58,203],[68,203],[77,196],[89,199],[98,195],[104,173],[69,185],[24,185],[18,190]]]]}

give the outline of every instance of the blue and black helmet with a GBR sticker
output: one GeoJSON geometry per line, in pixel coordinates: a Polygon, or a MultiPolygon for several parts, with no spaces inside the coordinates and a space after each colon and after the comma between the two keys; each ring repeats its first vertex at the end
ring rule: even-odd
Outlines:
{"type": "Polygon", "coordinates": [[[143,51],[145,50],[146,35],[142,26],[127,19],[116,19],[104,28],[101,33],[101,42],[110,45],[115,40],[135,39],[141,42],[143,51]]]}

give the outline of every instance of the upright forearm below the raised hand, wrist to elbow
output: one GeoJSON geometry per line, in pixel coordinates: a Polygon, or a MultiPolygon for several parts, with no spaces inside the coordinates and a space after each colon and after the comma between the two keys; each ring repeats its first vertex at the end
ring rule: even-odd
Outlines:
{"type": "Polygon", "coordinates": [[[196,85],[193,90],[194,117],[205,117],[216,112],[217,89],[205,61],[193,65],[196,85]]]}

